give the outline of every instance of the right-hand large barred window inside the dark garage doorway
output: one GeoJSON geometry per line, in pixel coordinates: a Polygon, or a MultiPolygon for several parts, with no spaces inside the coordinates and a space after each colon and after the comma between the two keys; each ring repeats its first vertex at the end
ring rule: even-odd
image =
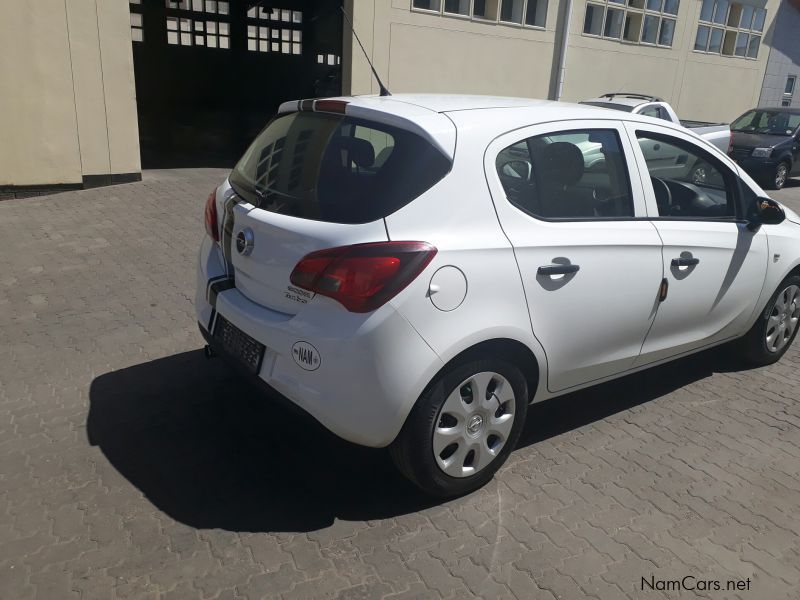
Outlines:
{"type": "Polygon", "coordinates": [[[250,52],[302,54],[303,13],[284,8],[253,7],[247,11],[247,49],[250,52]]]}

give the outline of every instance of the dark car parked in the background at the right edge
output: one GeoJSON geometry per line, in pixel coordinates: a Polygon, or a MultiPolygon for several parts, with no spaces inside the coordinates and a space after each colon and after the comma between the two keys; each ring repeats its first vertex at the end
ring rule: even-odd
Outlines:
{"type": "Polygon", "coordinates": [[[730,155],[761,185],[800,176],[800,108],[754,108],[731,123],[730,155]]]}

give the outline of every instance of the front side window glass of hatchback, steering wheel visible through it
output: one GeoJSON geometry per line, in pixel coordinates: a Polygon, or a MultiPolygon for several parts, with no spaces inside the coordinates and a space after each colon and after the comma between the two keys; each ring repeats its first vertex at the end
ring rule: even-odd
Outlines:
{"type": "Polygon", "coordinates": [[[694,144],[637,131],[658,216],[690,219],[736,217],[736,178],[719,160],[694,144]]]}

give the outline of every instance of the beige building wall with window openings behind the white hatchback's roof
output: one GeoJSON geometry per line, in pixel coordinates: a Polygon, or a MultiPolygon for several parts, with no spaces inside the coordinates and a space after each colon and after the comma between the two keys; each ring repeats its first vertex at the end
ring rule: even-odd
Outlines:
{"type": "MultiPolygon", "coordinates": [[[[586,36],[587,1],[574,0],[561,99],[634,91],[664,98],[687,119],[734,119],[758,102],[781,0],[741,1],[767,9],[755,60],[694,52],[700,0],[681,0],[672,48],[586,36]]],[[[356,30],[392,91],[554,97],[563,20],[558,12],[565,2],[550,0],[544,30],[420,13],[411,10],[411,0],[351,0],[350,5],[356,30]]],[[[375,93],[366,60],[350,42],[355,43],[346,43],[352,62],[346,53],[345,93],[375,93]]]]}

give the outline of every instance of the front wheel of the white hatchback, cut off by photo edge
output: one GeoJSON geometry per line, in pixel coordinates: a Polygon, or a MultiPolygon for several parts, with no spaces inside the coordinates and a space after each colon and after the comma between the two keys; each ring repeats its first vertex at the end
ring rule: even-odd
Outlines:
{"type": "Polygon", "coordinates": [[[739,354],[755,366],[778,362],[797,336],[799,321],[800,275],[790,275],[775,290],[750,331],[739,340],[739,354]]]}

